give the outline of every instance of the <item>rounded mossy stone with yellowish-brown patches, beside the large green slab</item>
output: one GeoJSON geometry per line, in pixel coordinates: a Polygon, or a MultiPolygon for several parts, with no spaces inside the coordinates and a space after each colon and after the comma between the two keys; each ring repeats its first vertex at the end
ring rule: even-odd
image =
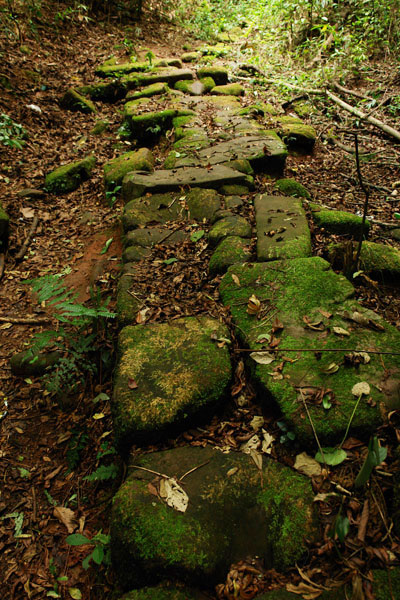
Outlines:
{"type": "Polygon", "coordinates": [[[229,338],[229,331],[209,317],[122,329],[112,402],[120,447],[182,431],[223,401],[231,363],[215,336],[229,338]]]}

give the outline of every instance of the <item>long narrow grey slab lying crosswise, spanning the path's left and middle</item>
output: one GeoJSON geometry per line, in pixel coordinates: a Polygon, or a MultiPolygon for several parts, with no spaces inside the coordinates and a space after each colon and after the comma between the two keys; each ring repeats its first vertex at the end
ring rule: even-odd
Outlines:
{"type": "Polygon", "coordinates": [[[184,186],[219,189],[226,183],[248,186],[246,175],[243,173],[216,165],[210,169],[182,167],[149,174],[129,173],[124,177],[122,190],[127,202],[145,194],[178,191],[184,186]]]}

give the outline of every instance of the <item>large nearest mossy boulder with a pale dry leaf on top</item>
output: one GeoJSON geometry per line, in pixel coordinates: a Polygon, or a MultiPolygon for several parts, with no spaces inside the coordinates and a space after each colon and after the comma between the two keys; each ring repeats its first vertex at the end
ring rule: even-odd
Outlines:
{"type": "Polygon", "coordinates": [[[187,446],[136,464],[177,478],[200,468],[184,480],[189,504],[182,513],[150,493],[154,474],[130,467],[111,519],[112,561],[123,589],[176,575],[211,587],[248,556],[282,571],[301,558],[306,539],[316,539],[310,480],[271,459],[263,458],[261,474],[249,455],[187,446]]]}

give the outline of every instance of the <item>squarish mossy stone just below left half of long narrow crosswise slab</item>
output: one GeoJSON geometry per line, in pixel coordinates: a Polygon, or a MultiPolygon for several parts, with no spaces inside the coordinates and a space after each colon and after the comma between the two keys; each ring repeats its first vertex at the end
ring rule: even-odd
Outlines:
{"type": "Polygon", "coordinates": [[[125,205],[122,226],[125,232],[150,224],[165,224],[182,218],[185,209],[174,194],[153,194],[125,205]]]}

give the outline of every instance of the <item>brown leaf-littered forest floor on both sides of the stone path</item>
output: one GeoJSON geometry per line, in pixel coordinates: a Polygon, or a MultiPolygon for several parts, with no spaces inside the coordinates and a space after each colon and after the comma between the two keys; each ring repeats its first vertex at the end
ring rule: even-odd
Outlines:
{"type": "MultiPolygon", "coordinates": [[[[104,565],[84,570],[82,559],[88,554],[88,548],[71,548],[65,541],[77,523],[88,537],[100,530],[108,533],[110,502],[121,478],[100,485],[85,481],[84,477],[98,466],[100,445],[104,440],[112,441],[109,405],[102,402],[99,408],[99,404],[93,402],[100,393],[111,395],[110,374],[96,381],[89,379],[74,398],[73,406],[65,411],[44,389],[39,378],[13,377],[9,359],[25,348],[33,334],[50,326],[40,323],[41,319],[52,321],[51,312],[35,302],[26,280],[49,273],[65,273],[66,281],[77,291],[81,302],[90,300],[91,286],[96,287],[102,297],[111,296],[111,308],[115,301],[122,252],[118,224],[121,205],[117,201],[111,208],[105,202],[102,164],[121,151],[116,146],[120,114],[115,106],[107,104],[99,105],[95,116],[69,113],[61,109],[58,102],[68,87],[91,83],[95,66],[112,54],[128,57],[132,50],[140,50],[142,55],[151,50],[160,58],[179,56],[187,43],[183,31],[149,15],[140,24],[133,43],[127,41],[130,35],[132,30],[127,32],[118,23],[107,23],[103,27],[82,23],[79,28],[69,25],[58,35],[43,29],[40,40],[26,36],[17,44],[0,38],[3,45],[1,111],[21,123],[28,134],[22,149],[0,146],[0,198],[11,219],[10,244],[0,282],[0,580],[2,595],[10,600],[68,598],[71,588],[78,588],[85,600],[101,600],[111,597],[113,589],[111,571],[104,565]],[[32,105],[39,107],[40,112],[32,105]],[[90,135],[98,119],[110,123],[111,135],[90,135]],[[77,191],[58,198],[19,195],[25,188],[43,187],[45,174],[59,164],[90,153],[97,158],[94,176],[77,191]],[[35,215],[39,222],[34,236],[22,260],[16,260],[35,215]],[[113,241],[108,252],[100,254],[110,238],[113,241]],[[32,319],[32,323],[12,322],[19,318],[32,319]]],[[[193,47],[198,43],[193,42],[193,47]]],[[[369,65],[365,73],[364,78],[349,80],[347,86],[363,93],[380,87],[388,98],[399,96],[400,80],[390,64],[376,62],[369,65]]],[[[260,100],[273,104],[285,101],[279,98],[276,89],[259,87],[258,94],[260,100]]],[[[394,116],[384,111],[383,106],[376,114],[395,123],[394,116]]],[[[287,112],[290,113],[290,107],[287,112]]],[[[285,176],[296,178],[322,204],[360,213],[364,194],[357,178],[354,153],[331,145],[325,139],[334,129],[335,133],[343,134],[342,143],[351,150],[353,123],[348,115],[339,113],[332,105],[327,108],[321,100],[316,102],[316,111],[310,114],[309,120],[319,134],[315,150],[308,156],[291,155],[285,176]]],[[[370,126],[362,125],[358,132],[361,151],[369,153],[368,161],[362,162],[363,178],[375,186],[370,216],[395,226],[394,213],[400,198],[400,148],[370,126]]],[[[167,145],[168,140],[164,146],[161,144],[159,151],[165,151],[167,145]]],[[[266,178],[260,177],[257,184],[263,189],[268,190],[269,186],[272,189],[266,178]]],[[[387,231],[385,226],[375,224],[371,239],[399,247],[398,242],[388,238],[387,231]]],[[[331,235],[315,229],[314,253],[325,256],[327,241],[331,239],[331,235]]],[[[203,261],[192,261],[190,269],[194,281],[196,278],[204,280],[203,261]]],[[[374,284],[362,277],[355,283],[361,303],[399,328],[399,289],[374,284]]],[[[148,282],[148,293],[152,285],[158,284],[148,282]]],[[[206,287],[205,293],[214,297],[216,284],[207,283],[206,287]]],[[[201,311],[200,305],[196,309],[195,302],[192,308],[201,311]]],[[[115,333],[111,327],[107,335],[104,334],[103,346],[111,353],[115,333]]],[[[243,378],[240,372],[236,375],[243,378]]],[[[382,445],[389,448],[388,466],[384,469],[387,473],[381,475],[378,482],[385,494],[390,494],[392,477],[399,466],[395,454],[400,441],[399,417],[397,413],[391,414],[379,432],[382,445]]],[[[228,420],[231,427],[222,433],[214,420],[195,434],[196,443],[215,441],[222,436],[224,443],[236,445],[235,437],[246,432],[234,410],[228,420]]],[[[266,420],[270,431],[276,432],[273,416],[267,415],[266,420]]],[[[188,438],[193,440],[191,435],[186,436],[188,438]]],[[[180,443],[179,439],[176,443],[180,443]]],[[[354,438],[348,440],[347,449],[357,456],[361,456],[363,448],[365,446],[354,438]]],[[[290,464],[287,450],[282,448],[279,452],[282,460],[290,464]]],[[[343,481],[345,478],[344,470],[343,481]]],[[[338,559],[329,566],[331,556],[324,558],[328,550],[321,545],[319,552],[310,558],[310,568],[320,569],[320,573],[329,571],[329,575],[335,577],[340,572],[368,569],[372,560],[391,563],[399,546],[387,529],[389,518],[386,520],[379,514],[384,514],[382,507],[380,504],[376,514],[371,515],[367,542],[358,556],[350,560],[354,547],[349,543],[343,562],[338,559]]],[[[348,511],[353,523],[359,523],[360,506],[354,503],[348,511]]],[[[269,579],[265,579],[265,588],[289,579],[299,581],[299,574],[270,574],[269,579]]]]}

